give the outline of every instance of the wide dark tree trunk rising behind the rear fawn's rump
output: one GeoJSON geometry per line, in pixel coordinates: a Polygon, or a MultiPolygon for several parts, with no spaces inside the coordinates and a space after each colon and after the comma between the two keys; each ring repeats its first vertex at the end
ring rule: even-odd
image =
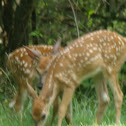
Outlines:
{"type": "Polygon", "coordinates": [[[34,0],[21,0],[17,6],[14,16],[14,28],[11,36],[8,38],[8,51],[28,45],[29,41],[29,19],[35,7],[34,0]]]}

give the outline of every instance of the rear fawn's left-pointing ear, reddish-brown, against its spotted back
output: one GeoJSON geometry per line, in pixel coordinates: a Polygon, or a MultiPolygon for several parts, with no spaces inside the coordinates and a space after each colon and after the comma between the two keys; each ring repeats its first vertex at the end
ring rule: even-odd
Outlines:
{"type": "Polygon", "coordinates": [[[34,50],[34,49],[30,49],[30,48],[28,48],[28,47],[26,47],[26,46],[24,46],[24,48],[26,49],[28,55],[29,55],[33,60],[37,60],[37,61],[38,61],[38,60],[40,59],[40,56],[41,56],[40,52],[38,52],[38,51],[36,51],[36,50],[34,50]]]}

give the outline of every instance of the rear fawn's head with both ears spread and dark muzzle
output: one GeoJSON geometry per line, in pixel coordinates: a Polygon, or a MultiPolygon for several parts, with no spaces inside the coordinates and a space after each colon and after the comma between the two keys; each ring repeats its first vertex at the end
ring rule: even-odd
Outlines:
{"type": "MultiPolygon", "coordinates": [[[[25,46],[24,46],[25,47],[25,46]]],[[[40,54],[40,52],[30,49],[28,47],[25,47],[27,50],[28,55],[36,62],[36,67],[35,70],[36,72],[39,74],[40,76],[40,82],[38,84],[38,88],[42,89],[43,87],[43,78],[45,78],[45,74],[47,72],[47,66],[49,64],[49,62],[51,61],[53,55],[55,55],[60,49],[61,47],[61,40],[59,39],[56,44],[53,47],[53,51],[51,55],[48,56],[42,56],[40,54]]]]}

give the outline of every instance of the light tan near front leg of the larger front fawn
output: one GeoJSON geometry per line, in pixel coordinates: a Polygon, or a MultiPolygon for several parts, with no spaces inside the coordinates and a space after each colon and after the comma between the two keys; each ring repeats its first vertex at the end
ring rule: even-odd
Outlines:
{"type": "Polygon", "coordinates": [[[64,89],[62,101],[61,101],[61,104],[60,104],[59,110],[58,110],[58,126],[61,126],[61,124],[62,124],[62,120],[66,115],[68,105],[70,104],[70,102],[72,100],[74,90],[75,89],[68,88],[68,87],[66,87],[64,89]]]}

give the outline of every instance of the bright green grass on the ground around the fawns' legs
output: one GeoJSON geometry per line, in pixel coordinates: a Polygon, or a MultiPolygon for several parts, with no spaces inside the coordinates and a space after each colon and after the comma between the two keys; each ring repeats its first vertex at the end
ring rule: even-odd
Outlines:
{"type": "MultiPolygon", "coordinates": [[[[124,98],[121,114],[121,123],[118,126],[126,125],[126,101],[124,98]]],[[[95,114],[96,114],[97,102],[94,97],[83,97],[81,101],[77,101],[73,98],[73,124],[74,126],[95,126],[95,114]]],[[[16,114],[13,109],[8,107],[6,102],[0,103],[0,126],[34,126],[34,121],[31,117],[31,102],[25,104],[24,110],[21,114],[16,114]]],[[[51,114],[47,120],[46,126],[49,126],[51,114]]],[[[113,100],[111,101],[107,111],[104,114],[101,126],[114,126],[115,120],[115,108],[113,100]]],[[[56,126],[57,118],[54,121],[53,126],[56,126]]],[[[65,120],[63,125],[66,126],[65,120]]]]}

